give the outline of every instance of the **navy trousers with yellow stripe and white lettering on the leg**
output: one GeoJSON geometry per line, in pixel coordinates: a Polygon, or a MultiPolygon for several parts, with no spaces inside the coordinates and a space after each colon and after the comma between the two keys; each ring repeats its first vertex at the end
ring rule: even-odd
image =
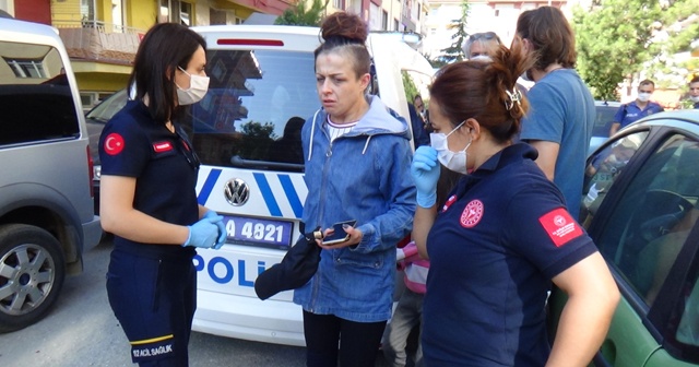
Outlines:
{"type": "Polygon", "coordinates": [[[197,309],[197,271],[191,259],[164,260],[115,250],[107,295],[141,367],[186,367],[197,309]]]}

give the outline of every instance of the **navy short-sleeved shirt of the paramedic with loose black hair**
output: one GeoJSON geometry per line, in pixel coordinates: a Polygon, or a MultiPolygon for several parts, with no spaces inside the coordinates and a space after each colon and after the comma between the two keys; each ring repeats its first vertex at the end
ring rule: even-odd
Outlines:
{"type": "MultiPolygon", "coordinates": [[[[102,174],[135,177],[133,208],[164,222],[191,225],[199,220],[199,159],[181,128],[176,133],[156,125],[146,107],[129,100],[99,138],[102,174]]],[[[156,257],[192,257],[181,246],[143,245],[115,236],[115,249],[156,257]]]]}

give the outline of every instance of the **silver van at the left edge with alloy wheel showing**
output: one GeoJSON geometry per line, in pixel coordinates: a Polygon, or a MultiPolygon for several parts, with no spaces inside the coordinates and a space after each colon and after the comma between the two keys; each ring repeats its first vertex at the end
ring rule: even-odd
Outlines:
{"type": "Polygon", "coordinates": [[[0,332],[55,305],[102,236],[66,48],[50,26],[0,19],[0,332]]]}

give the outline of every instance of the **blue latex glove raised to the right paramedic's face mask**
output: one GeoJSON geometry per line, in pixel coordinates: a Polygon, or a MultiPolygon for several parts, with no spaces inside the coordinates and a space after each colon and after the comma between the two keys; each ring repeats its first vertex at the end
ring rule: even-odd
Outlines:
{"type": "Polygon", "coordinates": [[[417,190],[417,204],[433,208],[437,202],[437,181],[439,180],[439,162],[437,151],[423,145],[415,151],[411,164],[411,175],[417,190]]]}

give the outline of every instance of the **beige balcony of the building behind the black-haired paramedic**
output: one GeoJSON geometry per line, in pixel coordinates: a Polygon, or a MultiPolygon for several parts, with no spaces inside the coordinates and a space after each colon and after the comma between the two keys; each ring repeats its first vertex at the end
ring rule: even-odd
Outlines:
{"type": "Polygon", "coordinates": [[[144,32],[99,21],[54,22],[72,60],[131,66],[144,32]]]}

